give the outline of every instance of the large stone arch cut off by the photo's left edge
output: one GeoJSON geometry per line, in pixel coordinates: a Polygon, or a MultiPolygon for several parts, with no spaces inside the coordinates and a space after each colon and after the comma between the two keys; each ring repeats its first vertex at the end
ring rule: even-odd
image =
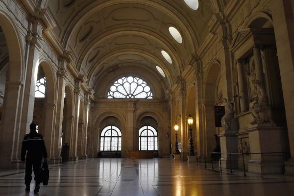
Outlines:
{"type": "Polygon", "coordinates": [[[21,35],[14,19],[0,9],[0,27],[3,30],[8,48],[8,74],[5,84],[5,95],[1,115],[1,127],[5,127],[0,132],[0,167],[10,167],[14,157],[19,154],[20,136],[20,116],[22,108],[22,91],[25,77],[24,47],[21,35]]]}

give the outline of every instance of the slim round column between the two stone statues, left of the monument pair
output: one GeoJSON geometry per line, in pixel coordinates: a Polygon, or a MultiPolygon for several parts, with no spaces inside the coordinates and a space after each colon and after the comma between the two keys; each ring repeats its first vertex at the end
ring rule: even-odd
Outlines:
{"type": "Polygon", "coordinates": [[[245,74],[243,69],[243,62],[238,60],[236,63],[237,66],[237,74],[238,74],[238,89],[239,89],[239,100],[240,100],[240,108],[241,113],[248,110],[248,103],[245,91],[245,74]]]}

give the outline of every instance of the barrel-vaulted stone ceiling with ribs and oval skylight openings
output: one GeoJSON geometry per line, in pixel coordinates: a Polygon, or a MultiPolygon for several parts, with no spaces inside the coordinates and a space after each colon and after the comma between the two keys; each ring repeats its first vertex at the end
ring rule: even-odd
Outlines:
{"type": "Polygon", "coordinates": [[[56,36],[73,52],[76,68],[90,86],[124,66],[147,68],[166,87],[172,86],[204,41],[213,14],[209,0],[200,0],[197,10],[184,0],[49,0],[48,6],[57,23],[56,36]],[[181,44],[172,37],[171,26],[181,34],[181,44]]]}

